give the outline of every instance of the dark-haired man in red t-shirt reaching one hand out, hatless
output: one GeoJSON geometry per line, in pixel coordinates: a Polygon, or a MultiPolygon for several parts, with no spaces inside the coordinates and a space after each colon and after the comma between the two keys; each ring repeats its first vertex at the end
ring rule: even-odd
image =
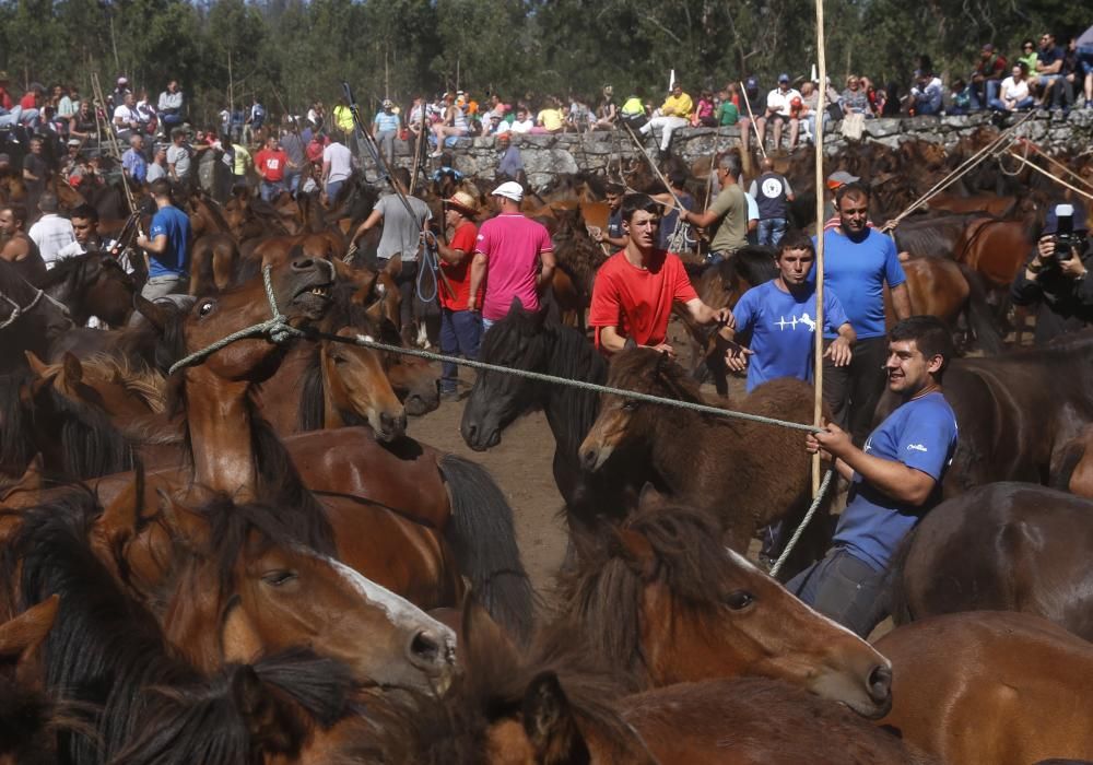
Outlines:
{"type": "Polygon", "coordinates": [[[622,201],[623,228],[630,236],[596,273],[588,323],[596,328],[596,346],[618,353],[627,340],[657,351],[675,351],[666,342],[672,304],[682,303],[697,323],[734,327],[728,308],[707,306],[691,286],[678,255],[657,249],[660,205],[648,195],[631,193],[622,201]]]}

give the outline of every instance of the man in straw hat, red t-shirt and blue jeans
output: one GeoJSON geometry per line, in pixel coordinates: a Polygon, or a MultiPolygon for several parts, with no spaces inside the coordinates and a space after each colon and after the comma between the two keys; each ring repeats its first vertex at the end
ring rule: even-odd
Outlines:
{"type": "MultiPolygon", "coordinates": [[[[447,244],[437,242],[440,256],[440,353],[478,358],[482,340],[482,315],[468,310],[471,296],[470,263],[478,242],[478,202],[466,191],[456,191],[444,200],[444,222],[450,232],[447,244]]],[[[475,304],[482,304],[483,290],[480,287],[475,304]]],[[[440,366],[440,397],[459,398],[457,385],[459,369],[451,362],[440,366]]]]}

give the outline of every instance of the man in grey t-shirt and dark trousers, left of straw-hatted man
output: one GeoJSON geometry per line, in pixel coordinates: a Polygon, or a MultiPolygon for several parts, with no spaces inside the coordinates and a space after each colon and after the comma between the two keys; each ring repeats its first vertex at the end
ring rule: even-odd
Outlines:
{"type": "Polygon", "coordinates": [[[396,255],[401,256],[402,268],[398,274],[395,274],[395,283],[399,285],[399,293],[402,295],[402,305],[399,308],[402,320],[402,339],[412,343],[414,337],[412,327],[413,287],[418,278],[418,251],[421,249],[422,231],[425,224],[432,220],[433,213],[430,212],[425,202],[407,193],[407,189],[410,188],[410,170],[406,167],[392,169],[390,181],[397,191],[376,202],[372,214],[353,235],[353,244],[356,244],[369,228],[383,223],[384,233],[379,238],[376,258],[379,260],[379,268],[383,269],[396,255]],[[400,191],[410,203],[413,215],[399,198],[400,191]]]}

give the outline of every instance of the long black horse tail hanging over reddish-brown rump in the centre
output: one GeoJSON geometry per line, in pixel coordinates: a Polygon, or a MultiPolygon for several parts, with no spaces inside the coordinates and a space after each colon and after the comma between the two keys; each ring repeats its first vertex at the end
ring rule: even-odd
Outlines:
{"type": "Polygon", "coordinates": [[[451,497],[444,537],[486,611],[521,643],[531,637],[536,593],[516,544],[513,508],[475,462],[445,455],[440,473],[451,497]]]}

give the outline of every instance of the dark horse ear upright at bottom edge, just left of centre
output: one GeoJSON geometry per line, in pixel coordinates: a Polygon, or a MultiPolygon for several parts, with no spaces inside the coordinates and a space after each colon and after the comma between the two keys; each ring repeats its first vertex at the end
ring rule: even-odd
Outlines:
{"type": "Polygon", "coordinates": [[[542,672],[528,684],[521,715],[524,732],[536,751],[536,762],[561,765],[591,761],[569,699],[553,672],[542,672]]]}

